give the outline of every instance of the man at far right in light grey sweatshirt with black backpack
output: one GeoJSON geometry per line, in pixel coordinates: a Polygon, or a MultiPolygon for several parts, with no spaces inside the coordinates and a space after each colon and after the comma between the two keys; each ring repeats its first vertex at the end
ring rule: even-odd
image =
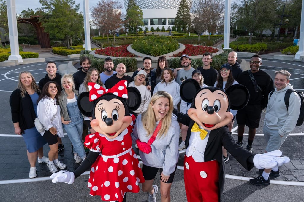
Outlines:
{"type": "MultiPolygon", "coordinates": [[[[301,99],[296,92],[291,92],[288,108],[285,105],[285,93],[288,89],[293,89],[289,83],[290,73],[286,70],[275,72],[275,90],[268,95],[263,133],[267,142],[266,152],[279,150],[289,133],[295,129],[295,124],[299,118],[301,99]],[[271,96],[270,96],[271,95],[271,96]],[[270,96],[270,97],[269,97],[270,96]]],[[[260,170],[260,176],[250,179],[254,185],[269,184],[269,175],[279,176],[279,168],[260,170]]]]}

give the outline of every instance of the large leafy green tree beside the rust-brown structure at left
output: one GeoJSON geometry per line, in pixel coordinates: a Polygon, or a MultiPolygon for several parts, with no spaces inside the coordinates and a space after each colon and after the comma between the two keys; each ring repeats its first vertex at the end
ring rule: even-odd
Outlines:
{"type": "Polygon", "coordinates": [[[65,39],[67,48],[72,45],[72,37],[78,38],[83,33],[83,15],[80,5],[74,0],[39,0],[44,12],[41,20],[44,32],[57,39],[65,39]]]}

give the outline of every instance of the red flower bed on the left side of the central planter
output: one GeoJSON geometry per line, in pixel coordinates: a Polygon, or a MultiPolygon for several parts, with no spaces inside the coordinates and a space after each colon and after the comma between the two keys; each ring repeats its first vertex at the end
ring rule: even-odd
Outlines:
{"type": "Polygon", "coordinates": [[[126,58],[134,58],[136,57],[134,54],[127,51],[128,45],[120,45],[117,47],[107,47],[104,49],[95,50],[95,54],[103,55],[103,56],[113,56],[113,57],[126,57],[126,58]]]}

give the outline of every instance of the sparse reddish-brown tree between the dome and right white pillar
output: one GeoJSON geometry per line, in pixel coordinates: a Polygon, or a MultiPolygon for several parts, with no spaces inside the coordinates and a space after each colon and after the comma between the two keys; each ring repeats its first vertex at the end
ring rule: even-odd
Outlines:
{"type": "MultiPolygon", "coordinates": [[[[199,35],[205,30],[215,33],[216,29],[223,24],[224,2],[223,0],[195,0],[192,13],[192,23],[199,35]]],[[[209,38],[210,35],[208,35],[209,38]]]]}

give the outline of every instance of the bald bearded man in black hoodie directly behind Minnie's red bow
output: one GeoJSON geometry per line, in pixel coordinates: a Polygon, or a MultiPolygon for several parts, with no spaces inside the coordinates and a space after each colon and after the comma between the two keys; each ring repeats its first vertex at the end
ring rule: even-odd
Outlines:
{"type": "Polygon", "coordinates": [[[112,88],[115,86],[116,83],[118,83],[121,80],[126,80],[129,83],[133,81],[131,76],[125,75],[126,73],[126,66],[123,63],[119,63],[116,66],[116,74],[113,74],[109,79],[105,81],[105,87],[106,88],[112,88]]]}

